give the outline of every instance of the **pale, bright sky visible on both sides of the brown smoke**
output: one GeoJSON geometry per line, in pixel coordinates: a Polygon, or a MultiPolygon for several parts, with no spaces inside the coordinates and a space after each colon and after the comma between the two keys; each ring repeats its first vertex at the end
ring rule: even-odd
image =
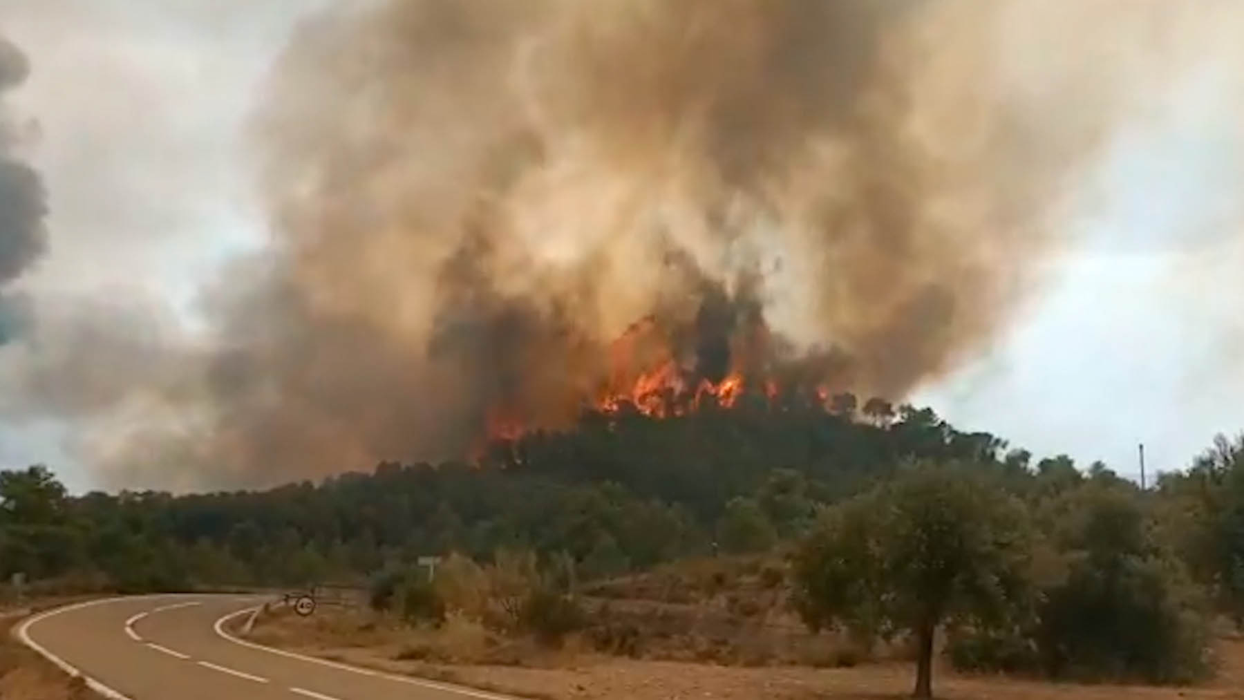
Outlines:
{"type": "MultiPolygon", "coordinates": [[[[1071,1],[1071,0],[1066,0],[1071,1]]],[[[24,281],[36,305],[118,292],[173,302],[260,245],[245,123],[294,22],[325,0],[4,0],[29,55],[12,97],[50,193],[51,249],[24,281]]],[[[1244,429],[1244,104],[1207,47],[1169,96],[1111,137],[1069,206],[1069,244],[1013,322],[912,400],[1037,455],[1135,476],[1186,466],[1244,429]]],[[[0,466],[44,461],[98,486],[72,424],[0,423],[0,466]]]]}

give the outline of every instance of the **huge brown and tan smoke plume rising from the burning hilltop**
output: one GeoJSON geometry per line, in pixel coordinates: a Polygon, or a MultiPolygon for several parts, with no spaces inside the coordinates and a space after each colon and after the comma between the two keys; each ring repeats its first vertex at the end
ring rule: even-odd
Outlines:
{"type": "Polygon", "coordinates": [[[1133,78],[1161,80],[1148,42],[1098,50],[1169,5],[1105,5],[328,11],[259,107],[274,240],[210,331],[80,310],[11,382],[93,417],[108,474],[180,486],[463,455],[499,410],[564,424],[637,327],[639,364],[902,398],[1004,326],[1133,78]]]}

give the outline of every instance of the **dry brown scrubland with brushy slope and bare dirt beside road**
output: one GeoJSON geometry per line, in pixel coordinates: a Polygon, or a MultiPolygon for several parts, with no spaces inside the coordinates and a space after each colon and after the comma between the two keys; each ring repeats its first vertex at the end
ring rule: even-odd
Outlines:
{"type": "MultiPolygon", "coordinates": [[[[439,627],[393,614],[321,607],[311,618],[261,615],[251,638],[333,660],[552,700],[814,700],[906,698],[913,666],[902,643],[863,649],[812,635],[786,610],[779,564],[683,562],[585,587],[587,624],[560,644],[504,634],[450,612],[439,627]]],[[[1244,639],[1217,644],[1219,671],[1192,688],[1051,684],[957,674],[940,664],[939,698],[1244,698],[1244,639]]]]}

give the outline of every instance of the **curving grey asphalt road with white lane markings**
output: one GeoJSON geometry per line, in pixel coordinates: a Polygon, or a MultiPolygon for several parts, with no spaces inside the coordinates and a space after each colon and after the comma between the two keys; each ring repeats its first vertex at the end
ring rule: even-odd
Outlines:
{"type": "Polygon", "coordinates": [[[224,620],[260,602],[236,596],[96,601],[42,613],[14,632],[114,700],[508,700],[230,635],[224,620]]]}

